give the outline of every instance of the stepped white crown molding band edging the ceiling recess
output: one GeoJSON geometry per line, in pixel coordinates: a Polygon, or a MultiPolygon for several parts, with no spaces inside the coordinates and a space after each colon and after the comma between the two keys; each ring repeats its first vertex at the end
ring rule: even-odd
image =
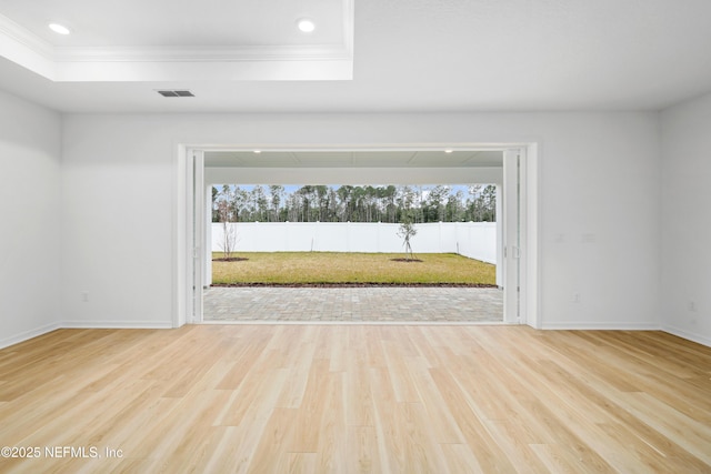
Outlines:
{"type": "Polygon", "coordinates": [[[0,56],[51,81],[351,80],[353,0],[339,44],[54,47],[0,14],[0,56]]]}

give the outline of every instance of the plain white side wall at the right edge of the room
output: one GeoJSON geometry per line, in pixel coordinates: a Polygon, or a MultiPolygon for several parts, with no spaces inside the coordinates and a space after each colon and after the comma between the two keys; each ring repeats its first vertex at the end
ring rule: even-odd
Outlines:
{"type": "Polygon", "coordinates": [[[661,117],[662,323],[711,345],[711,94],[661,117]]]}

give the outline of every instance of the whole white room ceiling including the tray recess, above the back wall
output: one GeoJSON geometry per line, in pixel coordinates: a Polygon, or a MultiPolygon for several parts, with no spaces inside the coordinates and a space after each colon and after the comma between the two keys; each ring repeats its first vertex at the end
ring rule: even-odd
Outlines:
{"type": "Polygon", "coordinates": [[[711,91],[708,0],[353,2],[2,0],[0,89],[62,112],[659,110],[711,91]]]}

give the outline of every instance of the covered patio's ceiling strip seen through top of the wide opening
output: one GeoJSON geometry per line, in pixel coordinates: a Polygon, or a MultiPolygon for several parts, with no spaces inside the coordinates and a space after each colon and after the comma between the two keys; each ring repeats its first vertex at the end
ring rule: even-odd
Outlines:
{"type": "Polygon", "coordinates": [[[206,151],[207,168],[501,168],[495,150],[206,151]]]}

